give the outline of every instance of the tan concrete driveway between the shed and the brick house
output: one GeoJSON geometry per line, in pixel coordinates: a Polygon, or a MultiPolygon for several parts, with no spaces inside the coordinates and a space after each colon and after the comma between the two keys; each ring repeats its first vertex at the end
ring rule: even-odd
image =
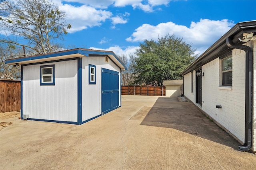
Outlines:
{"type": "Polygon", "coordinates": [[[0,131],[0,169],[255,170],[225,131],[189,102],[122,96],[122,107],[83,125],[24,121],[0,131]]]}

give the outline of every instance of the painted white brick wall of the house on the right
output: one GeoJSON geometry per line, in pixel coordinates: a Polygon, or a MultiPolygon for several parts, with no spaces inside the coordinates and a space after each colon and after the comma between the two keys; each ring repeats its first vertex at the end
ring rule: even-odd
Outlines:
{"type": "MultiPolygon", "coordinates": [[[[256,41],[250,41],[248,45],[254,49],[254,90],[253,90],[253,146],[256,151],[256,41]]],[[[232,88],[220,87],[221,65],[220,60],[215,59],[202,66],[202,110],[218,121],[223,127],[244,142],[245,121],[245,52],[234,49],[232,88]],[[222,109],[217,109],[221,105],[222,109]]],[[[194,80],[195,82],[195,80],[194,80]]],[[[194,83],[194,88],[196,84],[194,83]]],[[[196,103],[196,91],[191,93],[191,73],[184,75],[184,95],[196,103]]]]}

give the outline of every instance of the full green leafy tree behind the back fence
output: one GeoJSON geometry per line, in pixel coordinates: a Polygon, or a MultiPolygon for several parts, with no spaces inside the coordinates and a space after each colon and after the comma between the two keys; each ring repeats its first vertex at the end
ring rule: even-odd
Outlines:
{"type": "Polygon", "coordinates": [[[180,79],[180,73],[196,56],[195,49],[175,35],[147,39],[136,50],[133,72],[136,84],[162,86],[163,80],[180,79]]]}

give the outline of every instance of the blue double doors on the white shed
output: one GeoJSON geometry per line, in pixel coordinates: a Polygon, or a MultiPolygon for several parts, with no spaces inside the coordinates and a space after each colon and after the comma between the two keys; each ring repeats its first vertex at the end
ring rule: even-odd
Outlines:
{"type": "Polygon", "coordinates": [[[102,114],[108,113],[119,106],[119,72],[102,68],[102,114]]]}

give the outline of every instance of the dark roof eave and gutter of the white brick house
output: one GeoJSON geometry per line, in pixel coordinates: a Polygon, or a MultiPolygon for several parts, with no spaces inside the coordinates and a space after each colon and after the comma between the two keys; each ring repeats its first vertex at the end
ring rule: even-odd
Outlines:
{"type": "Polygon", "coordinates": [[[188,74],[189,72],[200,68],[202,65],[222,57],[221,55],[232,54],[232,48],[226,44],[228,37],[233,38],[234,43],[243,44],[240,41],[243,33],[256,33],[256,20],[238,22],[227,33],[225,33],[218,41],[216,41],[210,48],[208,48],[202,55],[200,55],[192,64],[190,64],[180,75],[188,74]]]}

